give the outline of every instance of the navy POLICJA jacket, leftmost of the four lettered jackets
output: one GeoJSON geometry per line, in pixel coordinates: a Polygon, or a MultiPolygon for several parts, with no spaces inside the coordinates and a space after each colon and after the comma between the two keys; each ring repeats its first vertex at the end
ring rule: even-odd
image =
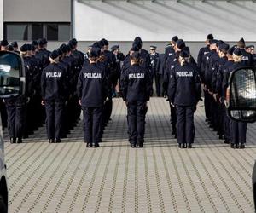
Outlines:
{"type": "Polygon", "coordinates": [[[44,68],[41,93],[45,101],[65,101],[67,98],[67,72],[58,64],[49,64],[44,68]]]}

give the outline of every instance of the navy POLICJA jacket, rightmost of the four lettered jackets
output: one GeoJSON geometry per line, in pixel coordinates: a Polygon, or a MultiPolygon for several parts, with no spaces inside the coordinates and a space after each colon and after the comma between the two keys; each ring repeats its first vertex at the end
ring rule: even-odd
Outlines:
{"type": "Polygon", "coordinates": [[[176,66],[170,75],[168,95],[172,103],[193,106],[201,98],[201,81],[195,66],[176,66]]]}

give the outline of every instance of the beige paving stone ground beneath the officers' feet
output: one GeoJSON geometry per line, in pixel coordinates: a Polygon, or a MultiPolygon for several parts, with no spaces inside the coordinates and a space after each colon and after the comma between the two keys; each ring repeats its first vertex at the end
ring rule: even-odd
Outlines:
{"type": "Polygon", "coordinates": [[[126,108],[113,100],[100,148],[86,148],[82,124],[60,144],[40,128],[23,144],[5,143],[9,212],[253,212],[256,127],[234,150],[195,113],[195,146],[178,149],[162,98],[148,103],[145,147],[127,142],[126,108]]]}

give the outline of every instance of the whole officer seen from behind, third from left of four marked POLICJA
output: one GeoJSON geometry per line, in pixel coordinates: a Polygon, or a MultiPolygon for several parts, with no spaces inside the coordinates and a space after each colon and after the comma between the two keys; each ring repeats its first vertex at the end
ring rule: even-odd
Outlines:
{"type": "Polygon", "coordinates": [[[139,52],[131,55],[131,66],[121,74],[123,100],[128,111],[129,141],[131,147],[143,147],[147,101],[152,83],[147,69],[139,66],[139,52]]]}

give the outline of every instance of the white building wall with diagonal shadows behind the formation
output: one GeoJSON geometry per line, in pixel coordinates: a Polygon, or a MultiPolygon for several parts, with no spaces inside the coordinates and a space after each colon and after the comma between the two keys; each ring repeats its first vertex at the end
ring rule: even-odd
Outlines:
{"type": "Polygon", "coordinates": [[[253,1],[89,1],[73,0],[73,36],[79,41],[256,40],[253,1]]]}

